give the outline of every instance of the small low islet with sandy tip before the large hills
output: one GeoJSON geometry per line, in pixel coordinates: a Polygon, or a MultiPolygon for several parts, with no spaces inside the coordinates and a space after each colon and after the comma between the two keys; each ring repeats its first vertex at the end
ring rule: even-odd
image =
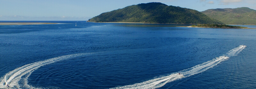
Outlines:
{"type": "Polygon", "coordinates": [[[209,28],[247,28],[247,27],[241,27],[241,26],[230,26],[226,24],[198,24],[198,25],[192,25],[191,27],[209,27],[209,28]]]}

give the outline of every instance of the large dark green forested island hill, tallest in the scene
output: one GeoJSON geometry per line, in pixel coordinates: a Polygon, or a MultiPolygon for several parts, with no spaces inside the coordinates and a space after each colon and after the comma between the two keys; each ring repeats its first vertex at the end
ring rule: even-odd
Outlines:
{"type": "Polygon", "coordinates": [[[168,6],[163,3],[141,3],[105,12],[89,22],[135,22],[159,24],[222,24],[192,9],[168,6]]]}

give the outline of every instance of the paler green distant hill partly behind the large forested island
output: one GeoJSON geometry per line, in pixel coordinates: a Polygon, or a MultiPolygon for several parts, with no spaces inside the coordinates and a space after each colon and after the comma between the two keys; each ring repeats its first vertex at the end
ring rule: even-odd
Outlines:
{"type": "Polygon", "coordinates": [[[202,11],[202,13],[219,20],[224,24],[256,25],[256,10],[247,7],[235,9],[209,9],[202,11]]]}

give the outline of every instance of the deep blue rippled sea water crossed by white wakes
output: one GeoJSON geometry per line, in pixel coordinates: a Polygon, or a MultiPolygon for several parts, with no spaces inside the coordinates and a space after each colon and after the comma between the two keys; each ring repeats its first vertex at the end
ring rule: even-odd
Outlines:
{"type": "Polygon", "coordinates": [[[255,29],[1,22],[62,23],[0,25],[1,89],[256,88],[255,29]]]}

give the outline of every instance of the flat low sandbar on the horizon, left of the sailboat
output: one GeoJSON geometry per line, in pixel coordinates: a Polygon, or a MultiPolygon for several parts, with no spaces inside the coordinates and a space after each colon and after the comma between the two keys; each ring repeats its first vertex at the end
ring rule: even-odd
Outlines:
{"type": "Polygon", "coordinates": [[[36,25],[36,24],[59,24],[59,23],[0,23],[0,25],[36,25]]]}

